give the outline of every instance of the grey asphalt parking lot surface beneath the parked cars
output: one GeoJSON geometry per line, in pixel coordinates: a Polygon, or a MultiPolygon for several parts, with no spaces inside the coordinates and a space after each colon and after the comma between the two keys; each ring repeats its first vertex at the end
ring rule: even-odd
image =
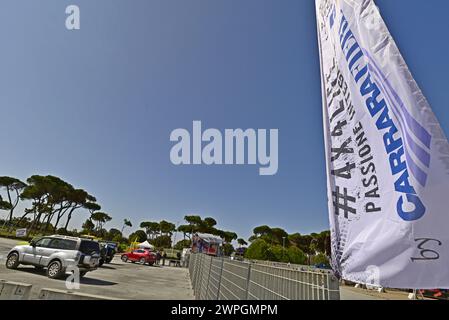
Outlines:
{"type": "MultiPolygon", "coordinates": [[[[37,271],[32,266],[7,269],[6,254],[17,243],[17,240],[0,238],[0,279],[32,284],[31,298],[37,298],[42,288],[67,290],[64,279],[49,279],[45,271],[37,271]]],[[[131,300],[194,299],[187,269],[124,263],[119,257],[89,272],[81,279],[80,289],[72,291],[131,300]]]]}

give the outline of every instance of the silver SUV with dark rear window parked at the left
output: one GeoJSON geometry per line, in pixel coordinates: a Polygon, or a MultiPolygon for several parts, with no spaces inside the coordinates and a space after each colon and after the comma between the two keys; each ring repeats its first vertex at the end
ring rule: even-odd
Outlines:
{"type": "Polygon", "coordinates": [[[29,245],[12,248],[6,259],[6,267],[16,269],[19,264],[24,264],[38,269],[47,268],[47,276],[52,279],[78,268],[80,277],[83,277],[87,272],[97,269],[99,258],[98,242],[54,235],[33,239],[29,245]]]}

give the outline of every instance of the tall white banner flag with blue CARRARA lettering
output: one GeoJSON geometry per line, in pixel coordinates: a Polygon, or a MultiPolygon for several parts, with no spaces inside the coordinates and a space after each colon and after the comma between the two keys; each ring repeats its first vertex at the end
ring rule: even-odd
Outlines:
{"type": "Polygon", "coordinates": [[[316,0],[333,266],[449,288],[449,144],[372,0],[316,0]]]}

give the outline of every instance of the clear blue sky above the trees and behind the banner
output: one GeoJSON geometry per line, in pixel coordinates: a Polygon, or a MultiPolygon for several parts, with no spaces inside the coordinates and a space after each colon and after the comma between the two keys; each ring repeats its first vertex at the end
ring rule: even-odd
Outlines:
{"type": "MultiPolygon", "coordinates": [[[[448,133],[449,2],[376,3],[448,133]]],[[[192,213],[245,238],[328,228],[313,0],[2,0],[0,39],[0,175],[60,176],[109,228],[192,213]],[[173,166],[170,132],[193,120],[278,128],[278,174],[173,166]]]]}

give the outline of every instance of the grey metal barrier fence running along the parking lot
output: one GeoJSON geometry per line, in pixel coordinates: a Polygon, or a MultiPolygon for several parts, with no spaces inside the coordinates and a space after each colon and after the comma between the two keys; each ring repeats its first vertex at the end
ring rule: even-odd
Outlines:
{"type": "Polygon", "coordinates": [[[192,254],[190,279],[197,300],[339,300],[329,270],[279,267],[192,254]]]}

